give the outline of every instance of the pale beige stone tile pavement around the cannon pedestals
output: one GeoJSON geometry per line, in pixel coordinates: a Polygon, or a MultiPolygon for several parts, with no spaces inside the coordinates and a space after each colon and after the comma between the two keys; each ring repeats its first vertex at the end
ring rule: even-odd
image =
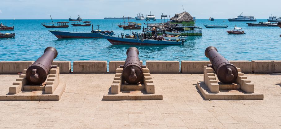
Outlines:
{"type": "MultiPolygon", "coordinates": [[[[203,74],[152,74],[163,100],[102,101],[114,74],[67,74],[59,101],[0,101],[0,128],[281,128],[281,74],[246,74],[264,100],[209,101],[203,74]]],[[[18,75],[0,75],[0,94],[18,75]]]]}

